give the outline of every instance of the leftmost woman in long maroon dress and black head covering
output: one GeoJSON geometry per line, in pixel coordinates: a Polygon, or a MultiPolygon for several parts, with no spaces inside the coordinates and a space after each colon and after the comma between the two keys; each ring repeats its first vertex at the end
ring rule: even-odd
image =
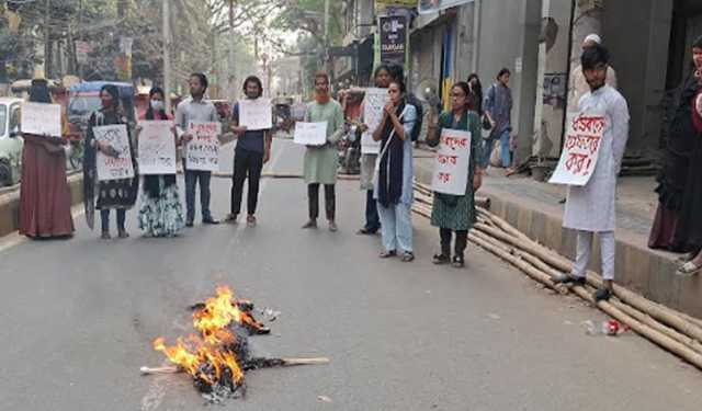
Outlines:
{"type": "MultiPolygon", "coordinates": [[[[30,102],[52,103],[46,80],[32,80],[30,102]]],[[[63,135],[68,123],[61,116],[63,135]]],[[[18,138],[12,137],[12,138],[18,138]]],[[[19,231],[30,238],[70,237],[70,189],[66,180],[65,139],[22,134],[22,185],[20,186],[19,231]]]]}

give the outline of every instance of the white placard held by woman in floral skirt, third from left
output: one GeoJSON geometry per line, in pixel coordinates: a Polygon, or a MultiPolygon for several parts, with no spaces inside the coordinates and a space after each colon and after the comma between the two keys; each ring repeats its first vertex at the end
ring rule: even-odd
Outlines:
{"type": "Polygon", "coordinates": [[[139,174],[176,174],[173,122],[140,122],[139,174]]]}

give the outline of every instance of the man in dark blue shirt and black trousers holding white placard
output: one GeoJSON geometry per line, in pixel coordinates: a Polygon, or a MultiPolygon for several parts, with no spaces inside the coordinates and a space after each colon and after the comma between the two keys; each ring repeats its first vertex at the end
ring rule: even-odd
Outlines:
{"type": "MultiPolygon", "coordinates": [[[[263,95],[263,84],[256,76],[250,76],[244,81],[244,93],[247,100],[257,100],[263,95]]],[[[249,179],[249,193],[247,195],[247,217],[249,227],[256,226],[256,207],[259,201],[259,182],[263,164],[271,159],[272,133],[270,129],[248,130],[239,122],[239,103],[234,105],[231,130],[238,136],[237,148],[234,155],[234,174],[231,178],[231,210],[227,216],[227,222],[237,222],[241,212],[241,196],[244,182],[249,179]]]]}

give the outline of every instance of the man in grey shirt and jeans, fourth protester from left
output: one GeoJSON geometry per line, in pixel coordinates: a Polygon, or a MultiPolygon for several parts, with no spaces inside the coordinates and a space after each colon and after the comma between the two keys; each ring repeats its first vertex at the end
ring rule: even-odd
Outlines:
{"type": "MultiPolygon", "coordinates": [[[[193,136],[188,132],[190,122],[212,122],[219,121],[217,109],[212,102],[205,101],[205,91],[207,90],[207,77],[203,73],[193,73],[190,76],[190,98],[178,104],[176,109],[176,129],[183,144],[183,151],[188,150],[188,142],[193,136]]],[[[208,225],[219,224],[212,217],[210,210],[210,180],[211,171],[188,170],[188,164],[183,156],[183,173],[185,174],[185,206],[188,216],[185,226],[192,227],[195,220],[195,191],[200,183],[200,206],[202,213],[202,222],[208,225]]]]}

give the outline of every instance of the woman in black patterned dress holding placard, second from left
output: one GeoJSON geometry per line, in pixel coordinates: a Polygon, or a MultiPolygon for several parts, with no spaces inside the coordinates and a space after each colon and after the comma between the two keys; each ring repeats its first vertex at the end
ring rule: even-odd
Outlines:
{"type": "MultiPolygon", "coordinates": [[[[86,159],[88,170],[95,170],[97,153],[101,151],[105,156],[116,155],[115,148],[106,142],[95,139],[94,127],[124,124],[127,125],[127,118],[120,105],[120,91],[115,85],[105,84],[100,90],[100,101],[102,109],[94,112],[88,124],[88,136],[86,138],[86,159]]],[[[132,144],[131,130],[127,126],[127,135],[129,136],[129,151],[132,155],[132,163],[135,170],[135,176],[132,179],[100,181],[98,183],[98,202],[95,208],[100,210],[100,219],[102,222],[103,240],[111,238],[110,235],[110,210],[115,209],[117,215],[117,235],[120,238],[127,238],[129,235],[125,229],[126,210],[136,203],[139,180],[136,175],[136,163],[134,146],[132,144]]],[[[86,167],[86,165],[83,165],[86,167]]],[[[91,183],[90,181],[88,183],[91,183]]],[[[86,195],[86,197],[90,197],[86,195]]],[[[92,198],[87,198],[92,201],[92,198]]]]}

